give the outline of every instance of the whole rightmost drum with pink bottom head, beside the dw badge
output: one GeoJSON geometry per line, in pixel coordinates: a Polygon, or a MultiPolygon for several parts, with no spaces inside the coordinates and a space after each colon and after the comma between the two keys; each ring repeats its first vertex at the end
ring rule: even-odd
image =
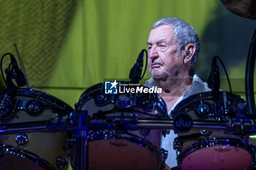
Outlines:
{"type": "MultiPolygon", "coordinates": [[[[173,109],[172,116],[184,113],[195,121],[227,122],[238,113],[246,114],[246,103],[241,96],[220,91],[215,97],[210,91],[185,98],[173,109]]],[[[255,154],[247,136],[227,134],[222,129],[192,128],[178,134],[173,147],[182,170],[250,169],[255,154]]]]}

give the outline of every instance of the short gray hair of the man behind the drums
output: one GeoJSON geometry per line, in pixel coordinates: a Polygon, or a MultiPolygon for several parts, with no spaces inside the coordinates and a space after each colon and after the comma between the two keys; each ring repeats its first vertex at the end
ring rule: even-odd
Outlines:
{"type": "Polygon", "coordinates": [[[192,56],[190,67],[193,66],[200,52],[200,42],[197,36],[197,31],[184,20],[179,18],[162,18],[157,20],[156,23],[151,26],[151,29],[157,28],[162,25],[170,25],[174,28],[173,34],[175,34],[178,42],[178,50],[182,50],[186,45],[192,43],[195,45],[195,54],[192,56]]]}

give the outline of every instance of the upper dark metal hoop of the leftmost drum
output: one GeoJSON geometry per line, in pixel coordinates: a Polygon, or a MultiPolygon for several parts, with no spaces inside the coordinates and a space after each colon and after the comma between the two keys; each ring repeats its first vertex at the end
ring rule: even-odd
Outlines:
{"type": "Polygon", "coordinates": [[[74,109],[66,104],[64,101],[61,101],[59,98],[56,98],[48,93],[34,90],[31,88],[18,88],[17,96],[26,96],[26,97],[34,97],[38,98],[41,101],[45,101],[45,103],[50,104],[53,108],[58,107],[63,110],[67,114],[73,112],[74,109]]]}

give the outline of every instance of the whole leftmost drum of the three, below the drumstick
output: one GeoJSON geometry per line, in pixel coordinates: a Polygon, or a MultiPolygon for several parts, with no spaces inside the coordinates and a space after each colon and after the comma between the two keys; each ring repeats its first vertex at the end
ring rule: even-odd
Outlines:
{"type": "MultiPolygon", "coordinates": [[[[73,112],[58,98],[33,89],[18,89],[14,98],[1,96],[1,125],[58,120],[73,112]]],[[[29,128],[33,129],[33,127],[29,128]]],[[[69,157],[65,132],[0,134],[1,170],[64,170],[69,157]]]]}

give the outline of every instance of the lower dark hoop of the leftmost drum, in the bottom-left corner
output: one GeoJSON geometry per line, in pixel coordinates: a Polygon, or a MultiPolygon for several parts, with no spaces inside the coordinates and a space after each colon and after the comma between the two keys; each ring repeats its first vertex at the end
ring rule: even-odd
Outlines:
{"type": "Polygon", "coordinates": [[[55,168],[45,159],[40,158],[38,155],[35,155],[32,152],[27,150],[18,149],[16,147],[12,147],[9,144],[0,144],[0,151],[4,153],[8,153],[11,155],[19,156],[20,158],[25,158],[41,167],[44,170],[55,170],[55,168]]]}

